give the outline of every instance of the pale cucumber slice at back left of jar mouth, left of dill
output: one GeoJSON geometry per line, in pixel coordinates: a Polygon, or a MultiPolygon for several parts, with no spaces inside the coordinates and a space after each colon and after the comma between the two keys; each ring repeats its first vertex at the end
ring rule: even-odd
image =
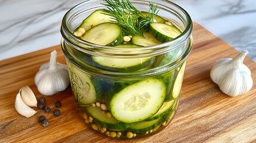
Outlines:
{"type": "Polygon", "coordinates": [[[104,13],[106,13],[104,10],[95,10],[91,15],[85,18],[79,27],[82,27],[85,29],[85,31],[87,31],[91,29],[91,27],[97,26],[98,24],[114,20],[112,16],[104,13]]]}

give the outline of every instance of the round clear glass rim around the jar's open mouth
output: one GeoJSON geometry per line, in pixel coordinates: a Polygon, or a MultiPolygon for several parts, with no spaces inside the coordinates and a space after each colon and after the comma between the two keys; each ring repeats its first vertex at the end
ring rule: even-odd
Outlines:
{"type": "MultiPolygon", "coordinates": [[[[152,2],[153,4],[157,4],[159,6],[159,4],[158,4],[159,2],[144,1],[144,0],[141,0],[141,1],[142,2],[152,2]]],[[[64,17],[61,21],[61,26],[60,26],[61,35],[63,36],[63,38],[65,39],[66,42],[74,44],[77,47],[76,49],[78,49],[79,51],[89,52],[90,54],[94,54],[94,55],[102,55],[102,54],[108,55],[109,54],[109,56],[113,56],[113,55],[118,56],[119,54],[105,53],[104,49],[107,49],[110,51],[111,50],[123,51],[124,48],[116,47],[116,46],[98,45],[95,43],[84,41],[82,39],[79,39],[75,35],[73,35],[72,31],[68,28],[67,20],[68,20],[69,14],[72,13],[73,11],[78,10],[79,7],[86,5],[88,2],[92,2],[92,1],[81,2],[80,4],[76,5],[75,7],[71,8],[69,11],[67,11],[67,13],[64,15],[64,17]]],[[[138,4],[138,1],[133,0],[130,2],[138,4]]],[[[164,43],[161,43],[158,45],[142,46],[142,47],[135,47],[135,48],[125,48],[127,51],[154,50],[155,54],[159,54],[162,52],[168,52],[168,51],[171,51],[172,49],[175,49],[175,47],[177,47],[178,45],[181,45],[184,41],[186,41],[186,39],[188,39],[190,37],[190,35],[192,33],[192,29],[193,29],[193,23],[192,23],[192,19],[191,19],[190,15],[187,13],[187,11],[185,11],[183,8],[181,8],[179,5],[175,4],[174,2],[164,1],[164,0],[161,0],[161,2],[169,3],[172,6],[174,6],[175,8],[178,8],[178,10],[180,10],[180,12],[185,16],[184,20],[186,21],[186,27],[184,28],[181,35],[177,36],[177,38],[174,38],[171,41],[164,42],[164,43]],[[168,48],[166,48],[166,47],[168,47],[168,48]]],[[[161,5],[161,8],[169,8],[169,7],[166,7],[165,5],[161,5]]],[[[138,54],[141,55],[141,52],[138,52],[138,54]]],[[[132,54],[132,55],[136,56],[138,54],[132,54]]],[[[143,53],[143,54],[147,54],[147,53],[143,53]]],[[[150,54],[152,54],[152,52],[150,54]]],[[[122,56],[123,55],[125,55],[125,54],[122,54],[122,56]]],[[[128,54],[128,55],[130,55],[130,54],[128,54]]]]}

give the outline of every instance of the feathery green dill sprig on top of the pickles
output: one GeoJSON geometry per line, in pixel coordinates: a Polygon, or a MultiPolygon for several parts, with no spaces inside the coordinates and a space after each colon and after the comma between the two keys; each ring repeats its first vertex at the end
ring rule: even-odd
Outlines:
{"type": "Polygon", "coordinates": [[[157,5],[149,3],[149,15],[141,14],[129,0],[103,0],[106,2],[106,14],[113,17],[113,22],[119,24],[125,35],[143,36],[144,30],[158,13],[157,5]]]}

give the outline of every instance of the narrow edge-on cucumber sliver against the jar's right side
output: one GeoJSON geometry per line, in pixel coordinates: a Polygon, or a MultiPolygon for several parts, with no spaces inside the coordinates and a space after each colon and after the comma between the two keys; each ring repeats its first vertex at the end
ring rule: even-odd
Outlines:
{"type": "Polygon", "coordinates": [[[174,81],[174,86],[172,88],[172,98],[174,99],[180,95],[185,67],[186,67],[186,61],[183,62],[182,66],[180,67],[180,71],[178,71],[177,77],[174,81]]]}

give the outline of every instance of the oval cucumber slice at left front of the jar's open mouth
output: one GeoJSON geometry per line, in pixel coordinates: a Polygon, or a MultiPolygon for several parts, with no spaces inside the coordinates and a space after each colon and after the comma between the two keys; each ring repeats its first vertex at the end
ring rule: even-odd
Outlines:
{"type": "Polygon", "coordinates": [[[85,32],[82,39],[98,45],[115,46],[123,40],[122,29],[116,23],[101,23],[85,32]]]}

